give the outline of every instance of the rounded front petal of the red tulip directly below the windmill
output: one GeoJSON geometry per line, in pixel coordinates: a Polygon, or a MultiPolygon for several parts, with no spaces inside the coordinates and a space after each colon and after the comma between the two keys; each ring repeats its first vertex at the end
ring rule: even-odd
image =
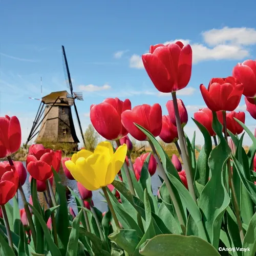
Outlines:
{"type": "Polygon", "coordinates": [[[53,176],[51,166],[43,161],[30,162],[27,169],[29,174],[36,180],[46,181],[53,176]]]}

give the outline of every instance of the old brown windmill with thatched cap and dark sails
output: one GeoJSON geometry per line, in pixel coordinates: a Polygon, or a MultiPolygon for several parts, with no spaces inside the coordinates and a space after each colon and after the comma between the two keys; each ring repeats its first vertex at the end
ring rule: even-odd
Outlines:
{"type": "Polygon", "coordinates": [[[70,93],[68,93],[67,91],[52,92],[42,97],[41,99],[37,99],[40,100],[40,105],[33,121],[33,125],[29,133],[26,145],[37,135],[35,139],[36,143],[71,143],[74,146],[74,150],[76,150],[79,140],[77,138],[73,122],[71,110],[72,106],[74,106],[75,116],[78,122],[83,143],[85,145],[81,122],[75,104],[75,100],[83,100],[83,97],[82,93],[73,92],[68,61],[65,53],[65,48],[63,46],[62,62],[67,87],[70,90],[70,93]],[[45,111],[43,111],[44,108],[45,111]],[[38,131],[39,126],[40,129],[38,131]]]}

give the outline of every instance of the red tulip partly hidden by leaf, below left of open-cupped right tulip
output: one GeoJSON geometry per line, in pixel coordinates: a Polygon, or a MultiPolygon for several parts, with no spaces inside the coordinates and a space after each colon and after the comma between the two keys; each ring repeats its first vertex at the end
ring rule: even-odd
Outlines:
{"type": "Polygon", "coordinates": [[[194,113],[194,118],[200,122],[209,132],[210,136],[215,136],[214,130],[212,130],[212,111],[208,108],[200,109],[194,113]]]}

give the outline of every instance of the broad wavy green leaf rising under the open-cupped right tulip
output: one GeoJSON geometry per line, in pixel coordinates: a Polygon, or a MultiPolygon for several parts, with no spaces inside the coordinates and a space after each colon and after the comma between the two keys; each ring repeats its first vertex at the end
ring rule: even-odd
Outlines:
{"type": "Polygon", "coordinates": [[[215,248],[218,248],[222,219],[230,202],[223,183],[222,170],[226,170],[231,150],[223,137],[223,126],[219,122],[216,112],[212,113],[214,116],[212,128],[219,137],[220,143],[210,153],[208,165],[211,178],[202,190],[198,205],[202,211],[202,220],[208,240],[215,248]],[[216,196],[217,191],[218,196],[216,196]]]}

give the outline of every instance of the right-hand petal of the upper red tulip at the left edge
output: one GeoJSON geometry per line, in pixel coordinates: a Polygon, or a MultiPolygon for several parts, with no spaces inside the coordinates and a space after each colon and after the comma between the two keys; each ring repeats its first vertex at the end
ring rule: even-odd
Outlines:
{"type": "Polygon", "coordinates": [[[9,121],[8,138],[9,150],[11,153],[15,153],[22,143],[22,130],[20,129],[19,120],[16,116],[12,116],[9,121]]]}

